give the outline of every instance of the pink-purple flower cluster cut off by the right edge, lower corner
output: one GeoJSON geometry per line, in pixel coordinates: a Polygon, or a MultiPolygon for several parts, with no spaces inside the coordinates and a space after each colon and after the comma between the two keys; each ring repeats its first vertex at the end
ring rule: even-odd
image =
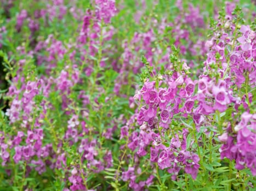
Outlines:
{"type": "Polygon", "coordinates": [[[255,114],[244,112],[241,121],[235,126],[235,132],[229,126],[219,140],[224,142],[220,147],[220,157],[236,160],[236,169],[251,169],[255,176],[255,114]]]}

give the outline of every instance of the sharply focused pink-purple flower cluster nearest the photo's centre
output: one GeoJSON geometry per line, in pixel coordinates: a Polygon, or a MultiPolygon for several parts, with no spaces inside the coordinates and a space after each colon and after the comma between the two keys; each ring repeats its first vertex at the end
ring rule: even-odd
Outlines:
{"type": "Polygon", "coordinates": [[[186,117],[194,106],[192,94],[195,85],[189,77],[183,79],[184,75],[175,73],[172,79],[168,79],[168,88],[156,88],[154,81],[144,83],[135,95],[135,99],[143,99],[146,104],[136,114],[140,133],[134,131],[128,144],[132,151],[138,148],[136,154],[139,157],[150,152],[150,161],[156,162],[160,169],[167,169],[173,174],[174,180],[182,168],[196,178],[199,168],[199,158],[190,151],[192,145],[187,145],[186,142],[187,130],[182,129],[179,133],[181,137],[170,133],[173,116],[181,113],[186,117]],[[183,99],[185,104],[182,104],[183,99]],[[166,135],[169,133],[173,138],[169,138],[168,144],[166,135]]]}

